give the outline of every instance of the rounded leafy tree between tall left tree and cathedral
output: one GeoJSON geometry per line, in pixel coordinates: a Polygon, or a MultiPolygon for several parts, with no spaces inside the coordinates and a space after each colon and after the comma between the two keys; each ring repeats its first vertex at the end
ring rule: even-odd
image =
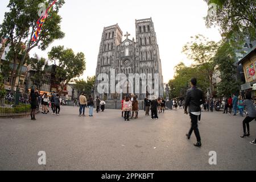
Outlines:
{"type": "Polygon", "coordinates": [[[48,58],[56,65],[55,83],[60,86],[59,93],[63,91],[68,82],[80,77],[86,69],[84,53],[75,55],[72,49],[64,46],[52,47],[48,58]]]}

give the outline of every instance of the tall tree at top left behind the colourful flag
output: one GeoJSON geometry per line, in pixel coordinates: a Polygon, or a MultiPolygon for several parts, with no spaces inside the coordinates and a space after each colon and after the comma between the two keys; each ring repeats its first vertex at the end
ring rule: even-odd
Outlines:
{"type": "Polygon", "coordinates": [[[0,37],[7,36],[9,38],[7,44],[10,45],[10,51],[7,53],[7,60],[13,62],[14,68],[18,64],[18,69],[13,69],[11,72],[12,89],[18,76],[18,70],[22,67],[20,60],[24,55],[24,49],[22,49],[24,45],[30,47],[27,51],[28,54],[35,47],[45,50],[54,40],[64,38],[64,33],[60,30],[61,17],[58,13],[65,2],[59,0],[44,23],[37,42],[31,42],[28,45],[37,28],[39,3],[49,6],[51,2],[51,0],[10,0],[7,6],[9,11],[5,13],[3,23],[0,24],[0,37]]]}

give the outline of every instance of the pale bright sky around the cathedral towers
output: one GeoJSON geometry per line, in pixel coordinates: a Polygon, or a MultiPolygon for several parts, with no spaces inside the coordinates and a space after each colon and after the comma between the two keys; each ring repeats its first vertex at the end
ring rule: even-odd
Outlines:
{"type": "MultiPolygon", "coordinates": [[[[22,0],[21,0],[22,1],[22,0]]],[[[8,10],[9,0],[0,2],[0,23],[8,10]]],[[[61,30],[65,38],[55,40],[46,51],[33,49],[32,54],[47,58],[53,46],[72,48],[75,53],[83,52],[86,71],[80,78],[96,73],[97,57],[104,27],[118,23],[129,39],[135,39],[135,19],[152,18],[158,40],[164,82],[174,77],[175,65],[183,61],[191,65],[192,60],[182,53],[183,46],[191,36],[202,34],[218,42],[221,40],[217,28],[207,28],[204,16],[208,6],[203,0],[65,0],[60,9],[61,30]]],[[[123,37],[125,40],[125,37],[123,37]]]]}

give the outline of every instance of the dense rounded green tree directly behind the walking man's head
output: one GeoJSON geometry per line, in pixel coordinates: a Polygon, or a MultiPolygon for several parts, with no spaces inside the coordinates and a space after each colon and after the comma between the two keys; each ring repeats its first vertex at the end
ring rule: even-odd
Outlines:
{"type": "Polygon", "coordinates": [[[184,97],[187,89],[189,89],[189,82],[193,77],[197,78],[197,86],[206,92],[209,86],[209,79],[202,74],[199,67],[187,67],[184,63],[177,64],[174,79],[168,82],[171,92],[170,97],[184,97]]]}

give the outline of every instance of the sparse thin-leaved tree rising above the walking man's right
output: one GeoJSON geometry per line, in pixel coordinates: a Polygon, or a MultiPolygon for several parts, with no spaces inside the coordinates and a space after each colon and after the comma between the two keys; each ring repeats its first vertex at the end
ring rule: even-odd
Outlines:
{"type": "Polygon", "coordinates": [[[204,76],[209,78],[210,92],[213,93],[213,74],[216,71],[216,61],[214,56],[216,54],[218,43],[209,41],[203,35],[196,35],[191,37],[192,42],[187,43],[183,47],[183,52],[188,59],[194,61],[194,66],[199,68],[204,76]]]}

